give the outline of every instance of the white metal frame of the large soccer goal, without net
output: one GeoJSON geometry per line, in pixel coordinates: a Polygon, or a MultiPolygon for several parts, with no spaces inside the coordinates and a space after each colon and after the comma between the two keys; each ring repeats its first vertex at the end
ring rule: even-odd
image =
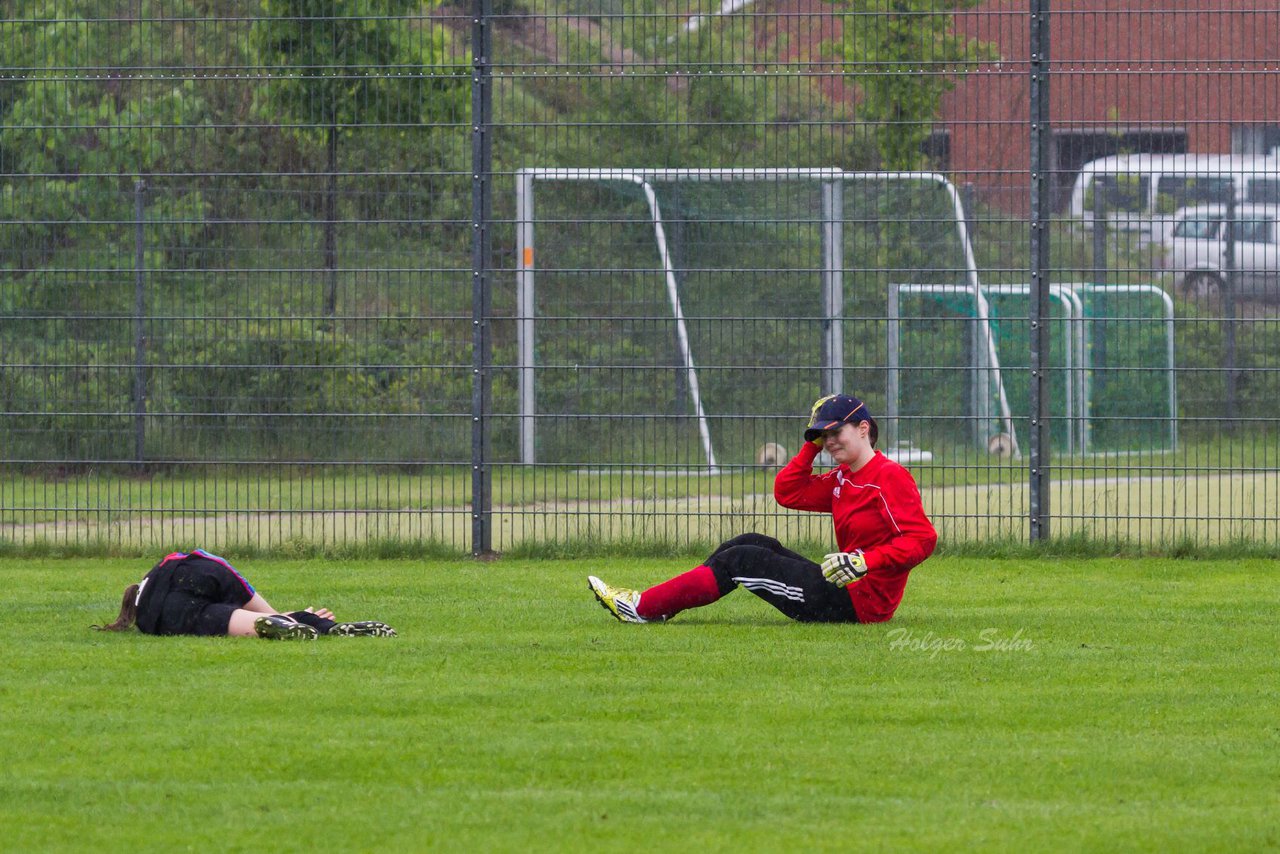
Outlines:
{"type": "MultiPolygon", "coordinates": [[[[538,181],[614,181],[637,186],[649,205],[649,216],[653,224],[654,243],[657,245],[658,259],[662,264],[663,278],[666,280],[667,298],[671,303],[672,318],[676,321],[676,338],[680,347],[680,356],[684,365],[689,393],[692,398],[695,417],[698,419],[698,434],[707,460],[708,474],[719,471],[716,460],[716,448],[712,444],[710,428],[707,420],[707,411],[703,406],[701,391],[698,383],[698,365],[689,344],[689,328],[685,323],[684,310],[680,303],[680,288],[676,278],[676,269],[672,262],[671,250],[667,242],[667,232],[662,218],[662,209],[658,204],[658,195],[653,182],[658,181],[689,181],[689,182],[731,182],[731,181],[765,181],[765,179],[803,179],[822,182],[823,229],[822,229],[822,302],[823,318],[826,319],[823,335],[823,365],[822,365],[822,392],[832,393],[844,391],[844,282],[842,282],[842,241],[841,229],[844,225],[844,183],[847,181],[913,181],[931,182],[940,184],[948,195],[955,213],[956,234],[964,252],[965,280],[974,294],[979,293],[978,266],[974,261],[973,246],[969,238],[969,228],[964,215],[964,205],[960,193],[945,175],[932,172],[845,172],[837,168],[776,168],[776,169],[564,169],[564,168],[524,168],[516,172],[516,352],[517,352],[517,397],[518,397],[518,425],[520,425],[520,461],[524,465],[535,465],[535,425],[538,401],[534,391],[534,367],[536,353],[534,352],[534,324],[535,324],[535,182],[538,181]]],[[[987,370],[995,371],[997,387],[1004,391],[1000,382],[1000,364],[987,365],[987,370]]]]}

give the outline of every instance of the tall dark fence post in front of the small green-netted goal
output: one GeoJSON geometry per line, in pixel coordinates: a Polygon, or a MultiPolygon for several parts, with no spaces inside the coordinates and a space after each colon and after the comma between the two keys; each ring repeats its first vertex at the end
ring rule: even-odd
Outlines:
{"type": "Polygon", "coordinates": [[[1050,131],[1048,131],[1048,5],[1030,3],[1030,539],[1050,535],[1050,131]]]}

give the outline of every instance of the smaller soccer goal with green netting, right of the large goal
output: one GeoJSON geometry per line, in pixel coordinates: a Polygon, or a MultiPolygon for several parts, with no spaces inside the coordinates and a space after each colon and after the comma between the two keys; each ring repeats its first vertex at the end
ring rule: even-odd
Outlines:
{"type": "MultiPolygon", "coordinates": [[[[1060,451],[1129,453],[1178,444],[1174,307],[1149,284],[1050,287],[1050,440],[1060,451]]],[[[1029,421],[1030,286],[900,284],[890,293],[890,401],[904,424],[1019,453],[1029,421]],[[992,370],[998,365],[1000,370],[992,370]],[[997,417],[993,417],[996,415],[997,417]],[[948,426],[950,425],[950,426],[948,426]]],[[[914,442],[929,438],[908,434],[914,442]]]]}

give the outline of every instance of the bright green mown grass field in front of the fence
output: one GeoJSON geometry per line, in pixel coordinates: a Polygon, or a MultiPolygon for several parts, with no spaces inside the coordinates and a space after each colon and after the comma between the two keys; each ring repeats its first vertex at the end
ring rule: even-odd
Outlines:
{"type": "Polygon", "coordinates": [[[586,590],[672,560],[238,563],[401,636],[102,635],[148,561],[0,561],[6,850],[1280,846],[1267,561],[941,557],[870,626],[586,590]]]}

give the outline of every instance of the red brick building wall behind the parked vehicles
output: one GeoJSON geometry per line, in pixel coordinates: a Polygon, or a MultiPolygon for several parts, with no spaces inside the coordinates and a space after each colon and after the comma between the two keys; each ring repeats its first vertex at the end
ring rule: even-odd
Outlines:
{"type": "MultiPolygon", "coordinates": [[[[997,0],[956,13],[956,31],[991,42],[1000,60],[943,99],[942,164],[984,201],[1027,207],[1029,4],[997,0]]],[[[777,0],[756,13],[783,59],[820,74],[822,44],[856,18],[823,0],[777,0]]],[[[1265,154],[1280,145],[1280,6],[1271,0],[1056,0],[1051,19],[1053,184],[1065,201],[1082,163],[1108,154],[1265,154]],[[1123,6],[1123,9],[1121,9],[1123,6]]],[[[923,58],[922,73],[928,73],[923,58]]],[[[820,76],[835,99],[856,85],[820,76]]],[[[856,111],[855,111],[856,115],[856,111]]]]}

